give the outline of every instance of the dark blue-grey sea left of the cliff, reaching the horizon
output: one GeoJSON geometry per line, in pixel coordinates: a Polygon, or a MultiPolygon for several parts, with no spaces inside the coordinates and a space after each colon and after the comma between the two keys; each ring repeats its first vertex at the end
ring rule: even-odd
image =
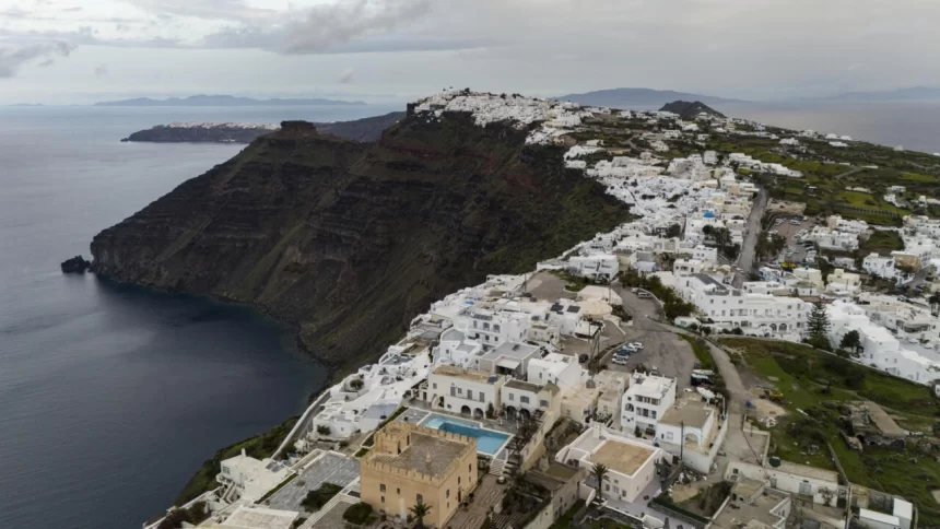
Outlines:
{"type": "Polygon", "coordinates": [[[101,230],[236,154],[120,143],[303,108],[0,108],[0,528],[139,528],[219,448],[299,413],[326,373],[244,307],[63,275],[101,230]]]}

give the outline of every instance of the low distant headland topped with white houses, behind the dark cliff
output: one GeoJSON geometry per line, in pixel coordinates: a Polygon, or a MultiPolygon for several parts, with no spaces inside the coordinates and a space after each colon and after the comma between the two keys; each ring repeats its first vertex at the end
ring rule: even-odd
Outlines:
{"type": "MultiPolygon", "coordinates": [[[[381,131],[391,127],[403,117],[404,113],[389,113],[383,116],[355,119],[353,121],[313,125],[319,132],[326,134],[333,134],[353,141],[372,142],[378,140],[381,131]]],[[[280,129],[281,125],[277,124],[173,122],[139,130],[121,141],[152,143],[251,143],[258,137],[280,129]]]]}

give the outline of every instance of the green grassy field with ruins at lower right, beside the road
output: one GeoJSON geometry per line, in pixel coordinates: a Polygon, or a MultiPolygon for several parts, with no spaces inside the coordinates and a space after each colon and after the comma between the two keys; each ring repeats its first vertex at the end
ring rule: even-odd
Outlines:
{"type": "Polygon", "coordinates": [[[839,436],[839,401],[866,399],[882,405],[898,424],[910,431],[930,432],[938,422],[940,407],[926,386],[909,383],[859,366],[809,346],[772,340],[725,338],[728,348],[743,352],[745,373],[750,369],[773,383],[784,393],[788,415],[772,428],[773,454],[783,459],[834,470],[823,446],[827,439],[849,481],[914,501],[921,524],[940,524],[940,505],[930,491],[940,489],[940,454],[926,443],[908,443],[904,450],[865,447],[850,450],[839,436]],[[831,392],[824,393],[826,383],[831,392]],[[820,447],[811,454],[811,445],[820,447]]]}

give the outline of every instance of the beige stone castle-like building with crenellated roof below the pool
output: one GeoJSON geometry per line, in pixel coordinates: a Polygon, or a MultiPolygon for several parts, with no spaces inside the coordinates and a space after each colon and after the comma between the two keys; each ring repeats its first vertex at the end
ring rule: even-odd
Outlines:
{"type": "Polygon", "coordinates": [[[406,518],[420,499],[431,507],[424,524],[445,527],[477,487],[477,439],[392,422],[375,433],[360,478],[362,501],[376,510],[406,518]]]}

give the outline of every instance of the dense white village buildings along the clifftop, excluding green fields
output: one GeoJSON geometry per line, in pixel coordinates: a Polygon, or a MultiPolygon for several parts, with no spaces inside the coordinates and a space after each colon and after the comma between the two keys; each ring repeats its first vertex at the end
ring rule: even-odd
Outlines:
{"type": "MultiPolygon", "coordinates": [[[[822,303],[831,343],[857,331],[851,362],[933,387],[940,220],[909,215],[886,227],[809,219],[800,204],[768,203],[747,177],[802,178],[798,171],[737,152],[665,155],[680,140],[704,145],[705,124],[710,133],[771,136],[740,119],[466,91],[418,102],[412,113],[428,121],[471,113],[480,127],[531,129],[528,144],[566,148],[566,167],[631,204],[634,219],[530,273],[492,275],[434,303],[376,363],[325,390],[270,458],[222,461],[220,486],[183,507],[208,507],[198,527],[348,527],[360,512],[363,527],[389,528],[419,518],[454,529],[916,527],[904,497],[768,456],[775,421],[760,412],[773,403],[745,387],[718,343],[702,341],[709,369],[686,339],[708,328],[800,342],[822,303]],[[603,128],[586,121],[636,126],[634,152],[609,148],[600,133],[583,139],[603,128]],[[774,215],[769,230],[765,215],[774,215]],[[896,233],[904,249],[871,254],[859,268],[836,260],[825,275],[816,266],[816,250],[855,250],[873,231],[896,233]],[[774,235],[785,247],[755,264],[757,239],[774,235]],[[737,257],[722,251],[731,247],[737,257]],[[661,299],[622,273],[657,278],[694,310],[670,321],[661,299]],[[865,277],[916,283],[920,294],[863,290],[865,277]],[[725,494],[707,516],[675,507],[719,485],[725,494]],[[610,524],[566,518],[592,503],[610,524]]],[[[795,148],[807,138],[853,141],[812,131],[771,139],[795,148]]],[[[844,413],[859,449],[910,435],[873,402],[844,413]]]]}

